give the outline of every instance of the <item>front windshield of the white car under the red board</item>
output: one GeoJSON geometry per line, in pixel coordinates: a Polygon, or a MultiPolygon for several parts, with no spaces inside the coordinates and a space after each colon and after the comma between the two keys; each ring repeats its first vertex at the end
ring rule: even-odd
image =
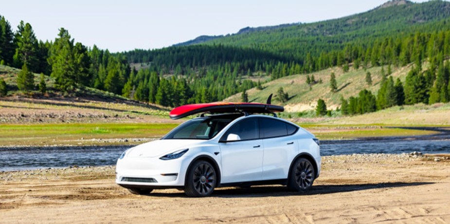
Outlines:
{"type": "Polygon", "coordinates": [[[162,139],[212,139],[232,120],[212,117],[193,119],[173,129],[162,139]]]}

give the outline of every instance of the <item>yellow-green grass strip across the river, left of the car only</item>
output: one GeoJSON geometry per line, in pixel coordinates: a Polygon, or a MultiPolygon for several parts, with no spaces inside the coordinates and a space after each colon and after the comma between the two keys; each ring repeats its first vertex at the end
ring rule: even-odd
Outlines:
{"type": "MultiPolygon", "coordinates": [[[[90,139],[159,138],[178,124],[1,125],[0,145],[117,144],[90,139]]],[[[131,144],[129,142],[128,144],[131,144]]]]}

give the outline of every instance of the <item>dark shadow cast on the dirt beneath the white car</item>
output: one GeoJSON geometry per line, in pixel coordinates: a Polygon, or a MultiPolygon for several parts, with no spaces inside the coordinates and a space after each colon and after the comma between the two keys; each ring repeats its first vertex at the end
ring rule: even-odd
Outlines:
{"type": "MultiPolygon", "coordinates": [[[[315,185],[308,192],[291,192],[285,186],[255,186],[252,188],[218,188],[210,197],[223,198],[244,198],[244,197],[277,197],[277,196],[298,196],[298,195],[315,195],[329,194],[341,192],[355,192],[370,189],[384,189],[396,187],[409,187],[434,184],[434,182],[392,182],[378,184],[331,184],[331,185],[315,185]]],[[[161,197],[187,197],[183,192],[177,193],[159,193],[152,192],[148,196],[161,197]]]]}

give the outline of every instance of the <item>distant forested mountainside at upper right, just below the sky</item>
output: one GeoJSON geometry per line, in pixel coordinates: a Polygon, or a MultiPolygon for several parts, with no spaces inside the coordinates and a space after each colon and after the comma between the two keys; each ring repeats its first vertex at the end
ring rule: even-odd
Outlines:
{"type": "Polygon", "coordinates": [[[447,1],[392,0],[357,15],[314,23],[252,28],[203,44],[266,49],[303,59],[307,52],[319,56],[321,51],[341,49],[346,44],[370,44],[378,37],[396,38],[414,32],[448,29],[449,24],[441,24],[441,21],[448,21],[449,16],[450,2],[447,1]]]}

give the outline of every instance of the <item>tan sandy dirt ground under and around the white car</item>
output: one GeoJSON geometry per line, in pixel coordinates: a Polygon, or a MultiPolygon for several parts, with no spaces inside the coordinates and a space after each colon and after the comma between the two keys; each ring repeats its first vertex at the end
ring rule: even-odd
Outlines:
{"type": "Polygon", "coordinates": [[[308,193],[221,188],[207,198],[132,195],[112,166],[3,172],[0,223],[450,223],[448,157],[414,157],[328,156],[308,193]]]}

